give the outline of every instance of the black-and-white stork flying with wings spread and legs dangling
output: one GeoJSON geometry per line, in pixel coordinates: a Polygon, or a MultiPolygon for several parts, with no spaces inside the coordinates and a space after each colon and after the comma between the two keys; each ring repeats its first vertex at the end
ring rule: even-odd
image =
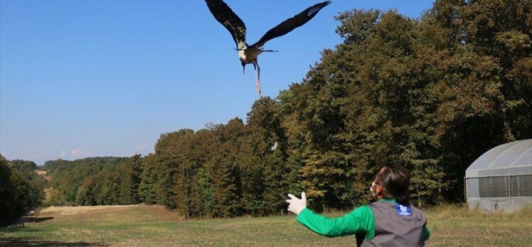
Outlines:
{"type": "Polygon", "coordinates": [[[225,4],[222,0],[205,0],[207,2],[208,9],[213,13],[216,21],[221,23],[229,33],[233,36],[235,40],[236,50],[238,53],[238,58],[242,63],[243,72],[245,72],[245,65],[252,64],[255,68],[256,82],[255,87],[257,87],[257,93],[259,97],[262,97],[260,92],[260,67],[257,62],[257,57],[260,53],[264,52],[275,52],[276,50],[264,50],[262,46],[273,38],[280,37],[285,35],[299,26],[303,26],[304,23],[310,21],[316,14],[323,9],[325,6],[331,4],[331,1],[324,1],[320,4],[315,4],[305,9],[301,13],[298,13],[296,16],[283,21],[275,28],[267,31],[265,35],[252,45],[248,45],[245,42],[245,24],[244,22],[225,4]]]}

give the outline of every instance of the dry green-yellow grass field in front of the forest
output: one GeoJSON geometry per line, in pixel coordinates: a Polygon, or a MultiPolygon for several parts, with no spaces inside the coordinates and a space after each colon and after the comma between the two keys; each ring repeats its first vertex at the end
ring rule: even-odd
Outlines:
{"type": "MultiPolygon", "coordinates": [[[[459,206],[427,209],[427,246],[532,246],[532,209],[486,214],[459,206]]],[[[341,213],[331,213],[337,216],[341,213]]],[[[36,223],[1,228],[2,246],[355,246],[325,238],[295,216],[185,221],[159,206],[51,207],[36,223]]]]}

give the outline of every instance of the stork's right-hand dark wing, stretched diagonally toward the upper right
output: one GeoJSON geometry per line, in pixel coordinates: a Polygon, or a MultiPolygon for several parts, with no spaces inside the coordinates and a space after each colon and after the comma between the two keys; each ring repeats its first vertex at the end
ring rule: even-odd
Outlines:
{"type": "Polygon", "coordinates": [[[310,6],[309,8],[305,9],[301,13],[298,13],[296,16],[287,19],[286,21],[283,21],[279,25],[277,25],[275,28],[270,29],[270,31],[267,31],[262,38],[260,38],[257,43],[251,45],[254,48],[260,48],[262,45],[264,45],[268,40],[271,40],[272,38],[277,38],[282,35],[285,35],[289,33],[290,31],[294,30],[295,28],[298,28],[299,26],[303,26],[304,23],[307,23],[307,21],[310,21],[318,11],[323,9],[325,6],[331,4],[331,1],[324,1],[320,4],[315,4],[314,6],[310,6]]]}

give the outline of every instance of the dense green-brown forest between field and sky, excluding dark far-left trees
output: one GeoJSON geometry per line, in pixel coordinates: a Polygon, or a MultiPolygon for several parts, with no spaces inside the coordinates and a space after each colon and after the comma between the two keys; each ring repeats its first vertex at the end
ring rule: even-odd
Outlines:
{"type": "Polygon", "coordinates": [[[410,170],[412,204],[461,202],[479,155],[532,138],[531,8],[448,0],[418,19],[339,13],[343,43],[245,122],[164,133],[145,157],[48,161],[50,203],[268,215],[304,190],[312,209],[352,209],[393,164],[410,170]]]}

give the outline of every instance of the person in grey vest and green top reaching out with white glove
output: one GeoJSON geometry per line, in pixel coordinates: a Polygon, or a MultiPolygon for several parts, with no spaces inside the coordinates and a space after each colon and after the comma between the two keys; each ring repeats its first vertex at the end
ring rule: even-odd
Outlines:
{"type": "Polygon", "coordinates": [[[370,187],[376,202],[363,205],[337,218],[329,218],[307,208],[301,199],[288,194],[288,211],[297,222],[327,237],[356,235],[357,246],[424,246],[430,236],[427,217],[408,203],[410,173],[400,165],[386,165],[370,187]]]}

